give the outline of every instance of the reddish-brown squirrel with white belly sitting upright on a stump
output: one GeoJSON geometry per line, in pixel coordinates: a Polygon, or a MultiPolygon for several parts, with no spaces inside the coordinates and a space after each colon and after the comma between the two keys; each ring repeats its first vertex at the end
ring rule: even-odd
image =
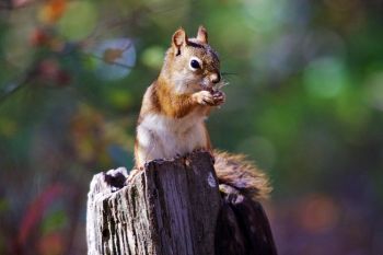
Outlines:
{"type": "Polygon", "coordinates": [[[199,26],[188,38],[178,28],[158,79],[147,89],[137,124],[136,169],[152,160],[172,159],[195,150],[209,151],[220,184],[233,186],[254,199],[267,197],[268,179],[244,155],[212,149],[205,120],[225,101],[217,51],[199,26]]]}

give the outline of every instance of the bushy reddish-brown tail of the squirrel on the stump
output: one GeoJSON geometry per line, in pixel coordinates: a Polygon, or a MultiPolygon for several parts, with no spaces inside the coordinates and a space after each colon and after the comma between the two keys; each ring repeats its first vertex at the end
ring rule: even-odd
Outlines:
{"type": "Polygon", "coordinates": [[[271,192],[268,178],[243,154],[213,151],[214,169],[220,184],[239,189],[253,199],[266,198],[271,192]]]}

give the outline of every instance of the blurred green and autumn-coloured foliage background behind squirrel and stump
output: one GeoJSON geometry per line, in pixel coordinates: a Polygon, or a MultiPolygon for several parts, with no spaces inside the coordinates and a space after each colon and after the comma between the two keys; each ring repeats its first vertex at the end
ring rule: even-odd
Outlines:
{"type": "Polygon", "coordinates": [[[142,94],[172,33],[199,24],[230,82],[213,144],[270,175],[280,254],[382,254],[382,12],[379,0],[0,1],[0,254],[85,253],[90,179],[132,166],[142,94]]]}

